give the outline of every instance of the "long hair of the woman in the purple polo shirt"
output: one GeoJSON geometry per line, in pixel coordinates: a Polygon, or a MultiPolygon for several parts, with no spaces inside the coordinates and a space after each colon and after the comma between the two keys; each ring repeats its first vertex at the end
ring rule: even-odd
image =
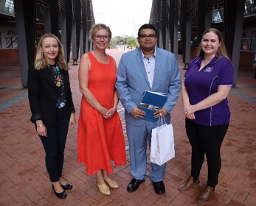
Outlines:
{"type": "MultiPolygon", "coordinates": [[[[204,32],[203,36],[202,36],[202,40],[204,39],[204,35],[209,33],[209,32],[215,33],[215,35],[218,36],[219,42],[221,43],[221,46],[218,47],[218,51],[216,52],[216,57],[226,57],[230,61],[229,55],[226,52],[226,47],[225,47],[225,44],[224,44],[224,40],[222,38],[221,32],[218,29],[215,29],[215,28],[207,29],[204,32]]],[[[197,52],[196,52],[196,56],[197,57],[204,56],[204,51],[201,49],[201,42],[200,42],[200,44],[198,46],[198,49],[197,49],[197,52]]]]}

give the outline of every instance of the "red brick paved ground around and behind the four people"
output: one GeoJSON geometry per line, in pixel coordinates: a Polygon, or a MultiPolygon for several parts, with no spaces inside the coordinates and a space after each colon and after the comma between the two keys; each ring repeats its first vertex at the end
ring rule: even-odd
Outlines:
{"type": "MultiPolygon", "coordinates": [[[[128,50],[107,50],[119,63],[128,50]]],[[[179,66],[184,70],[179,56],[179,66]]],[[[73,99],[80,112],[78,65],[69,63],[73,99]]],[[[254,71],[239,71],[238,83],[229,94],[232,120],[221,148],[222,168],[219,183],[209,202],[201,205],[256,205],[256,79],[254,71]]],[[[200,205],[196,196],[207,180],[207,165],[201,170],[201,186],[187,192],[177,188],[190,174],[190,143],[184,131],[181,99],[172,112],[176,157],[167,163],[166,193],[156,195],[147,177],[138,191],[128,193],[129,149],[125,132],[123,108],[118,107],[125,134],[127,166],[114,168],[111,174],[120,188],[111,189],[111,196],[101,194],[95,185],[95,176],[87,176],[85,166],[77,163],[77,125],[69,129],[65,150],[63,176],[74,188],[66,199],[58,199],[46,172],[44,149],[30,123],[27,88],[21,88],[18,65],[0,66],[0,205],[200,205]]],[[[150,164],[148,162],[148,168],[150,164]]]]}

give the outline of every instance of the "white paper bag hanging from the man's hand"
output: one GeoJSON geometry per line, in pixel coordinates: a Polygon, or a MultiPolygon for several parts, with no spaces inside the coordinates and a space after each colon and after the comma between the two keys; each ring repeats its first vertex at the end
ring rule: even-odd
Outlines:
{"type": "Polygon", "coordinates": [[[161,166],[175,157],[173,125],[163,124],[152,129],[151,162],[161,166]]]}

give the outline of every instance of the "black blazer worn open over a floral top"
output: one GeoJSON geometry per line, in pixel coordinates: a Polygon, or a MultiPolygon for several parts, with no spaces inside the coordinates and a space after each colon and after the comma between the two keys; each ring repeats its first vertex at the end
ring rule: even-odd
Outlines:
{"type": "MultiPolygon", "coordinates": [[[[60,69],[66,91],[66,113],[70,118],[71,113],[75,113],[72,101],[72,93],[69,83],[69,72],[60,69]]],[[[28,96],[30,100],[30,110],[32,116],[30,121],[41,119],[46,127],[55,124],[57,110],[56,102],[58,97],[57,86],[54,84],[49,68],[35,70],[34,65],[30,65],[27,79],[28,96]]]]}

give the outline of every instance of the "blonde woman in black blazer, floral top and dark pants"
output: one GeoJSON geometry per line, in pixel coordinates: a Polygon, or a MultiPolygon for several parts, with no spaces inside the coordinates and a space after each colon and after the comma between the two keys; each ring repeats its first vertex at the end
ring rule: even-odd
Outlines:
{"type": "Polygon", "coordinates": [[[28,93],[36,131],[46,152],[46,168],[52,190],[66,198],[72,184],[62,177],[64,149],[69,126],[75,126],[75,108],[63,46],[52,34],[38,43],[35,62],[28,73],[28,93]]]}

